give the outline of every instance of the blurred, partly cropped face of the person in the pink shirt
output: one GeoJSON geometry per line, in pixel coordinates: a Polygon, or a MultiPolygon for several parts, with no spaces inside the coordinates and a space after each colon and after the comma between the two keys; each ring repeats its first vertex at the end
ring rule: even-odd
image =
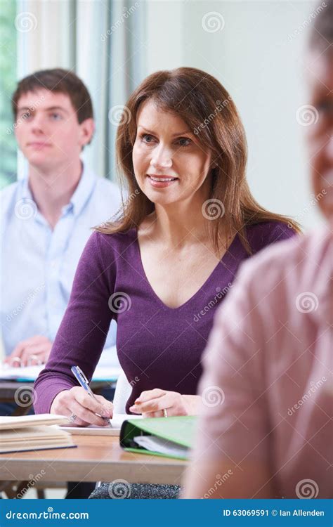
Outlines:
{"type": "Polygon", "coordinates": [[[308,126],[311,180],[315,195],[322,194],[318,206],[333,224],[333,53],[311,54],[311,105],[317,122],[308,126]],[[323,192],[325,190],[325,192],[323,192]]]}

